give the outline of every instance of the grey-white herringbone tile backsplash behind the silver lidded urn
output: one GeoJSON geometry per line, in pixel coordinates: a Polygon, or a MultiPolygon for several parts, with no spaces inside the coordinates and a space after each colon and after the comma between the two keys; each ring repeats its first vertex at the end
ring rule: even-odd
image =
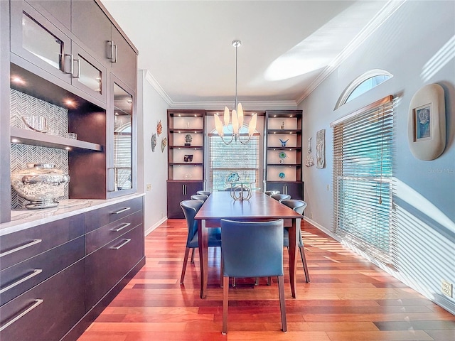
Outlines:
{"type": "MultiPolygon", "coordinates": [[[[11,89],[11,126],[28,129],[23,116],[37,115],[45,117],[47,133],[66,137],[68,134],[68,110],[50,104],[36,97],[11,89]]],[[[44,133],[43,133],[44,134],[44,133]]],[[[62,171],[68,172],[68,151],[58,148],[45,148],[27,144],[11,144],[11,172],[26,168],[27,163],[55,163],[62,171]]],[[[60,200],[68,199],[68,186],[60,200]]],[[[19,197],[11,186],[11,210],[24,207],[28,200],[19,197]]]]}

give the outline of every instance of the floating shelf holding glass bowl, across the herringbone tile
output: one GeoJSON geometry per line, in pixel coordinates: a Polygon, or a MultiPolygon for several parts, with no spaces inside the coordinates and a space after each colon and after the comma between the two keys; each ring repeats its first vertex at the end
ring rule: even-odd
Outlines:
{"type": "Polygon", "coordinates": [[[11,142],[15,144],[28,144],[31,146],[78,151],[103,150],[103,147],[100,144],[92,144],[91,142],[67,139],[65,137],[38,133],[38,131],[21,129],[15,126],[11,126],[11,142]]]}

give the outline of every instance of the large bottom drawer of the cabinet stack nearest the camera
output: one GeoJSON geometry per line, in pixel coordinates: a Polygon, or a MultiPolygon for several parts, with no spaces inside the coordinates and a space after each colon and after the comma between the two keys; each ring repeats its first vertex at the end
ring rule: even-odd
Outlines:
{"type": "Polygon", "coordinates": [[[0,307],[0,340],[60,340],[84,315],[84,260],[0,307]]]}

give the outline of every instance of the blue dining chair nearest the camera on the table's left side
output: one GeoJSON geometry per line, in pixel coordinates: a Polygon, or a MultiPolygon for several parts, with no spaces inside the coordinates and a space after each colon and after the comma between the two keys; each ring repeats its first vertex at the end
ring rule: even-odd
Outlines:
{"type": "MultiPolygon", "coordinates": [[[[180,206],[185,215],[186,225],[188,227],[188,236],[186,238],[185,256],[183,258],[182,274],[180,276],[180,283],[183,284],[185,278],[186,265],[188,264],[188,255],[191,251],[191,264],[194,264],[194,251],[198,247],[198,222],[194,219],[196,213],[203,205],[202,200],[183,200],[180,206]]],[[[220,227],[213,227],[208,229],[208,247],[221,247],[221,231],[220,227]]],[[[222,262],[223,263],[223,262],[222,262]]]]}

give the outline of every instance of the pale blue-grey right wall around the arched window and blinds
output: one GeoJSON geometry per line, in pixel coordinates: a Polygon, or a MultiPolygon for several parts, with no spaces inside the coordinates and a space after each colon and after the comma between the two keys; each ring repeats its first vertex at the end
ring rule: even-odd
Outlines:
{"type": "MultiPolygon", "coordinates": [[[[395,107],[394,202],[397,210],[397,271],[385,269],[420,293],[455,312],[455,300],[441,295],[441,279],[455,284],[455,2],[407,1],[355,53],[304,99],[304,146],[326,129],[326,168],[304,167],[305,215],[330,230],[333,217],[333,130],[330,122],[392,94],[395,107]],[[449,44],[449,47],[447,47],[449,44]],[[333,110],[341,92],[372,69],[392,79],[333,110]],[[444,88],[447,139],[434,161],[412,156],[407,142],[410,100],[422,86],[444,88]],[[329,190],[327,190],[327,185],[329,190]]],[[[314,147],[314,144],[313,144],[314,147]]],[[[306,157],[306,152],[305,155],[306,157]]]]}

